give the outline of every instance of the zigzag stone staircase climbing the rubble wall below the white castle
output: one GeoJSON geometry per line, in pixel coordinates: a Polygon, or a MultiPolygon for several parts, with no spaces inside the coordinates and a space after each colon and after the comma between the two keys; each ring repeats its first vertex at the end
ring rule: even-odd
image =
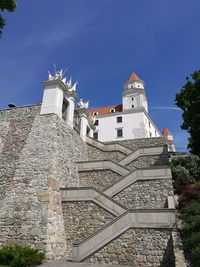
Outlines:
{"type": "MultiPolygon", "coordinates": [[[[103,144],[91,138],[86,142],[89,160],[77,162],[80,187],[61,189],[62,203],[70,205],[72,211],[71,224],[73,220],[75,224],[78,221],[77,226],[73,226],[69,260],[154,267],[165,264],[171,253],[170,238],[175,225],[171,170],[165,145],[148,144],[133,150],[122,144],[103,144]],[[88,208],[79,207],[86,229],[82,238],[79,218],[73,218],[73,210],[80,203],[88,205],[88,208]],[[157,241],[159,247],[152,245],[150,252],[146,251],[147,239],[152,243],[157,241]]],[[[68,208],[63,206],[67,236],[70,232],[68,208]]]]}

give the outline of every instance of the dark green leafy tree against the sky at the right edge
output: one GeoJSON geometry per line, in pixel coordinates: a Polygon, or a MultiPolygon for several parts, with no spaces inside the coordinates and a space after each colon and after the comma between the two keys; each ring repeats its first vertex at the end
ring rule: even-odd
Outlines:
{"type": "Polygon", "coordinates": [[[181,128],[190,134],[188,148],[200,156],[200,70],[186,80],[180,93],[176,94],[176,105],[183,110],[181,128]]]}

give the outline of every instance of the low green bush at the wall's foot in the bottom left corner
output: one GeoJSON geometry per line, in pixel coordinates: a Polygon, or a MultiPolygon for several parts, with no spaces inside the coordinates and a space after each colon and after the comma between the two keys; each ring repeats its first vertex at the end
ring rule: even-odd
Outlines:
{"type": "Polygon", "coordinates": [[[9,267],[37,266],[44,258],[43,252],[30,247],[15,245],[0,249],[0,263],[9,267]]]}

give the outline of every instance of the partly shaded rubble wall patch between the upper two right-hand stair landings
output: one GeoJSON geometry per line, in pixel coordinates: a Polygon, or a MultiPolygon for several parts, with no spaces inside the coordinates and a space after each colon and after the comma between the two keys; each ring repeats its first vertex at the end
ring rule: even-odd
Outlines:
{"type": "Polygon", "coordinates": [[[130,162],[126,167],[130,170],[137,168],[148,168],[151,166],[162,166],[168,165],[169,159],[167,154],[163,155],[155,155],[155,156],[142,156],[137,158],[136,160],[130,162]]]}

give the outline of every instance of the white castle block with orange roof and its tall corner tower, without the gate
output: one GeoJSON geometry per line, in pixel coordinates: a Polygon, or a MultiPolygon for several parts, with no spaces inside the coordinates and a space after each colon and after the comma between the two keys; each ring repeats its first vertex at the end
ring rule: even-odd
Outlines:
{"type": "Polygon", "coordinates": [[[161,136],[148,115],[144,82],[135,73],[124,84],[120,111],[111,106],[93,109],[90,113],[95,119],[94,138],[102,142],[161,136]]]}

